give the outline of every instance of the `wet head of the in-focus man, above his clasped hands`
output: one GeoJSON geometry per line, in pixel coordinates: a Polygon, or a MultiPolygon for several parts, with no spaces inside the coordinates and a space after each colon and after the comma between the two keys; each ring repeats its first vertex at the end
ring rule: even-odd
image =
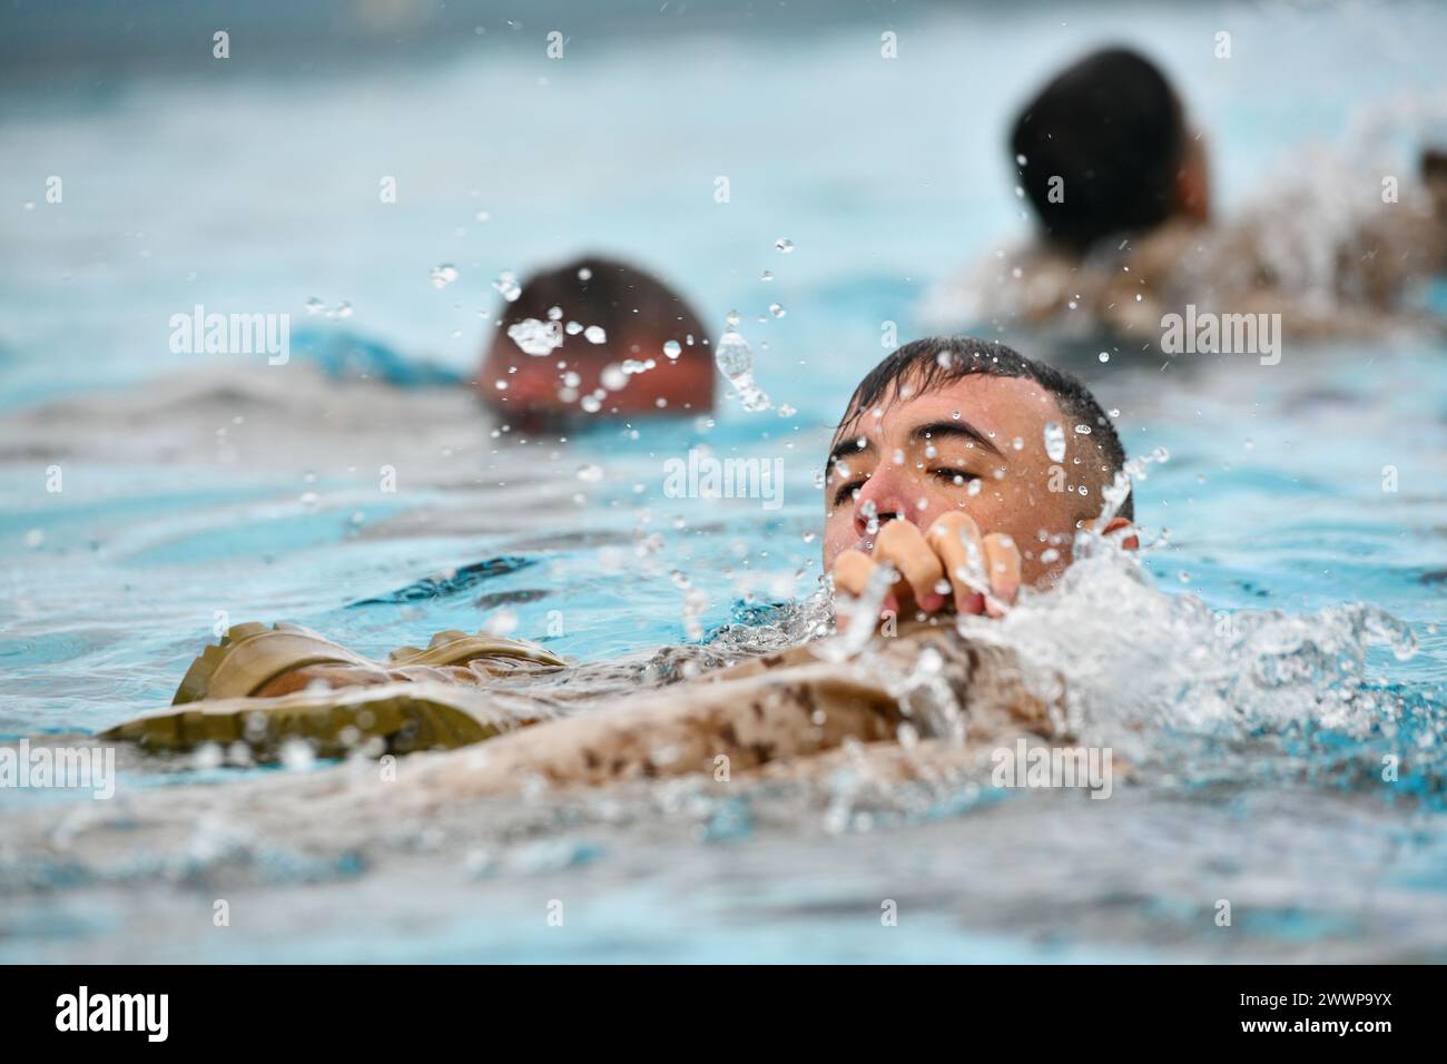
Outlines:
{"type": "MultiPolygon", "coordinates": [[[[1069,373],[1000,343],[916,340],[864,378],[835,430],[825,570],[844,550],[874,549],[871,520],[928,528],[961,510],[983,534],[1011,536],[1023,579],[1037,583],[1069,565],[1124,462],[1110,417],[1069,373]]],[[[1101,531],[1133,520],[1127,495],[1101,531]]]]}

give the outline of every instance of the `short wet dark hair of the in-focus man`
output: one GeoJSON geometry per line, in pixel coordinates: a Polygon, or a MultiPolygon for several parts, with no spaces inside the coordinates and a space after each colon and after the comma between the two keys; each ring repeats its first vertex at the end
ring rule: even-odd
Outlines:
{"type": "MultiPolygon", "coordinates": [[[[1090,426],[1090,437],[1111,473],[1119,473],[1124,468],[1126,449],[1120,443],[1116,426],[1091,395],[1090,388],[1064,369],[1027,359],[1003,343],[977,340],[971,336],[933,336],[906,343],[887,355],[854,389],[838,431],[854,426],[864,411],[883,402],[890,389],[897,389],[900,384],[909,382],[915,387],[915,395],[923,395],[975,375],[1035,381],[1055,397],[1066,426],[1090,426]]],[[[1117,517],[1136,520],[1134,492],[1126,497],[1117,517]]]]}

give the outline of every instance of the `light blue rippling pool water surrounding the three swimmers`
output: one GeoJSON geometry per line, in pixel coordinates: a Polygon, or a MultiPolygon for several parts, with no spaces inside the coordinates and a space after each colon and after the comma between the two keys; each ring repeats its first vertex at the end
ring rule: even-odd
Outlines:
{"type": "MultiPolygon", "coordinates": [[[[1402,116],[1409,145],[1412,116],[1441,114],[1447,13],[1427,6],[767,19],[579,16],[563,62],[489,22],[355,68],[278,46],[0,85],[0,735],[166,704],[223,620],[381,654],[501,609],[621,662],[687,640],[680,575],[705,631],[806,598],[829,426],[881,323],[935,327],[932,287],[1022,235],[1006,116],[1087,43],[1176,72],[1227,214],[1289,208],[1270,181],[1354,123],[1402,116]],[[794,413],[495,436],[447,384],[491,282],[590,249],[674,278],[718,327],[738,310],[794,413]],[[443,262],[460,279],[438,291],[443,262]],[[174,355],[169,317],[197,303],[289,313],[315,342],[285,366],[174,355]],[[330,358],[341,333],[369,356],[330,358]],[[783,459],[783,507],[667,498],[664,462],[693,446],[783,459]],[[399,594],[417,586],[438,594],[399,594]]],[[[1137,485],[1149,582],[1101,559],[1010,631],[1142,766],[1111,801],[831,779],[421,811],[363,801],[357,766],[123,757],[113,802],[0,790],[0,958],[1447,958],[1447,342],[1260,366],[1003,339],[1079,371],[1133,455],[1169,453],[1137,485]],[[308,812],[331,786],[359,788],[353,815],[308,812]]]]}

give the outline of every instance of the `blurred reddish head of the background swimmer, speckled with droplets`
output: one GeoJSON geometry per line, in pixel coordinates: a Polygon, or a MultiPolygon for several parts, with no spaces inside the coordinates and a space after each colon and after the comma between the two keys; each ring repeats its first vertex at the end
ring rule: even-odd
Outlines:
{"type": "Polygon", "coordinates": [[[706,413],[715,369],[705,336],[697,314],[666,284],[586,256],[528,278],[506,304],[478,391],[519,426],[574,414],[706,413]],[[557,347],[548,346],[550,333],[557,347]]]}

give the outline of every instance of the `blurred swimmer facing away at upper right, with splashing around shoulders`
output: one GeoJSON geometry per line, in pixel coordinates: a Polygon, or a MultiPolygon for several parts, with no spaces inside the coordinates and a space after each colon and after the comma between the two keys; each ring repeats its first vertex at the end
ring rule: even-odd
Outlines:
{"type": "Polygon", "coordinates": [[[1299,187],[1223,223],[1204,136],[1175,88],[1145,56],[1108,48],[1023,107],[1010,158],[1037,237],[932,292],[932,318],[1155,343],[1162,318],[1188,304],[1281,314],[1295,339],[1433,323],[1408,297],[1447,268],[1441,153],[1425,152],[1420,180],[1402,181],[1393,201],[1379,174],[1307,159],[1299,187]]]}

